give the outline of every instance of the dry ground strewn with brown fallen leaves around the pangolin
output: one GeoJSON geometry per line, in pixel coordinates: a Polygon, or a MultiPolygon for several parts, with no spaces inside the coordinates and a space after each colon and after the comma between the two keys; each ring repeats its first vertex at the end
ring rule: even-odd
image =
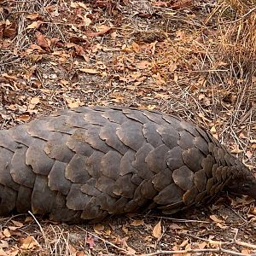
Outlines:
{"type": "MultiPolygon", "coordinates": [[[[223,6],[0,1],[1,128],[78,106],[156,109],[212,131],[255,171],[256,76],[249,58],[230,54],[237,17],[223,6]]],[[[141,212],[100,224],[20,214],[0,220],[0,255],[248,255],[255,224],[255,201],[235,195],[175,216],[141,212]]]]}

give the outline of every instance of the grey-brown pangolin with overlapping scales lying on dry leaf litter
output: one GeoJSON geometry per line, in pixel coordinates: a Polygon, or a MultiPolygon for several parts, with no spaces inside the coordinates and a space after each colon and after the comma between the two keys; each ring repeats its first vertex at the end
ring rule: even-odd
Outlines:
{"type": "Polygon", "coordinates": [[[223,189],[256,198],[256,179],[211,134],[172,115],[74,108],[0,131],[0,215],[173,213],[223,189]]]}

